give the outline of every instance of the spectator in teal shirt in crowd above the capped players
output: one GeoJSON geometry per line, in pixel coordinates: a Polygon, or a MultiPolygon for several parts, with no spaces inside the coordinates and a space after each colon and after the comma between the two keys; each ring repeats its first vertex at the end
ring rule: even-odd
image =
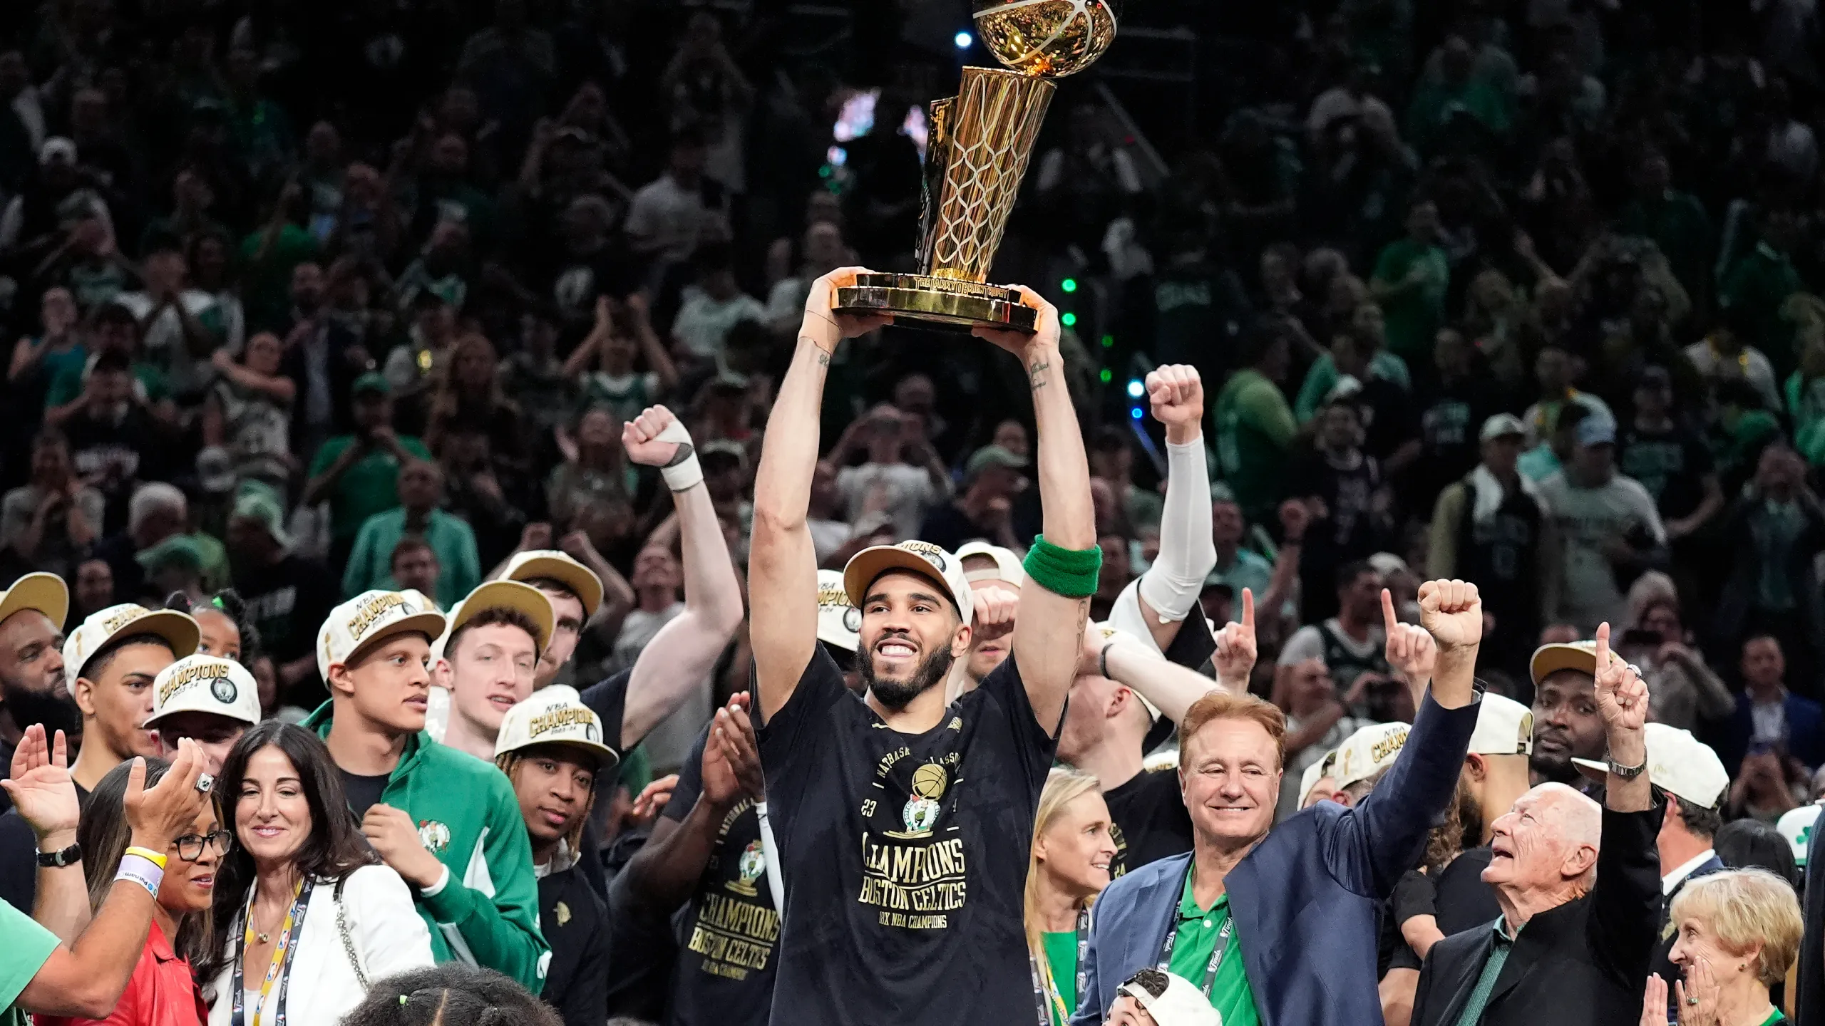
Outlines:
{"type": "Polygon", "coordinates": [[[451,608],[482,582],[482,560],[474,550],[474,531],[458,517],[438,509],[443,498],[443,471],[431,460],[409,460],[400,467],[400,506],[374,513],[361,522],[354,550],[343,570],[343,597],[370,590],[398,590],[392,555],[400,539],[423,539],[436,553],[438,584],[431,595],[440,608],[451,608]]]}

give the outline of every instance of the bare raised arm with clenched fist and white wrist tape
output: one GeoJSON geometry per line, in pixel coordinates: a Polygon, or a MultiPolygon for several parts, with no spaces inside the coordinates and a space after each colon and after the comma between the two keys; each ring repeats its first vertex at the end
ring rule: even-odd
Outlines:
{"type": "Polygon", "coordinates": [[[672,716],[710,675],[741,624],[741,582],[710,504],[710,489],[697,469],[690,433],[677,416],[662,405],[648,407],[620,429],[620,444],[635,464],[662,467],[677,504],[684,564],[684,612],[646,643],[628,679],[628,707],[620,721],[620,747],[626,750],[672,716]]]}

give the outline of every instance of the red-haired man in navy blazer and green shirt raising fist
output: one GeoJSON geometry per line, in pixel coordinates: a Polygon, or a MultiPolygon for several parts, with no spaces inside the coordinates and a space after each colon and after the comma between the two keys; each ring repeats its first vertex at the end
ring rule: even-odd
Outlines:
{"type": "Polygon", "coordinates": [[[1431,694],[1394,765],[1356,809],[1323,801],[1274,827],[1285,758],[1279,710],[1215,692],[1186,712],[1179,781],[1194,849],[1128,873],[1097,900],[1073,1026],[1100,1024],[1115,988],[1166,962],[1163,947],[1181,898],[1215,911],[1221,896],[1234,924],[1223,958],[1239,957],[1243,973],[1203,973],[1228,980],[1221,984],[1226,993],[1206,989],[1214,1006],[1234,1013],[1237,1002],[1252,1002],[1263,1026],[1380,1022],[1382,907],[1420,862],[1433,820],[1456,790],[1480,701],[1476,586],[1425,582],[1420,623],[1424,632],[1391,632],[1391,650],[1436,644],[1431,694]]]}

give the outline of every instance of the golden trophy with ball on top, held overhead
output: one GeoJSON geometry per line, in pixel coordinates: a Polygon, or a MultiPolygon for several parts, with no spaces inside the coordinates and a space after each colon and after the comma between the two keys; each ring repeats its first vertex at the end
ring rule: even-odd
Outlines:
{"type": "Polygon", "coordinates": [[[1033,141],[1057,89],[1115,40],[1110,0],[975,0],[976,37],[998,68],[964,68],[956,97],[931,104],[918,274],[860,274],[836,290],[850,314],[1033,330],[1020,290],[987,285],[1033,141]]]}

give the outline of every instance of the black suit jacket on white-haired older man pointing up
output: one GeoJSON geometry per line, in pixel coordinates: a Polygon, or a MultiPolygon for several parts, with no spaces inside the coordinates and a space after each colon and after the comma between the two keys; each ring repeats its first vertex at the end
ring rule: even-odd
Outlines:
{"type": "MultiPolygon", "coordinates": [[[[1655,805],[1602,814],[1590,895],[1535,915],[1495,980],[1482,1026],[1617,1026],[1641,1021],[1661,920],[1661,831],[1655,805]]],[[[1495,947],[1489,924],[1455,933],[1425,957],[1413,1026],[1455,1026],[1495,947]]]]}

